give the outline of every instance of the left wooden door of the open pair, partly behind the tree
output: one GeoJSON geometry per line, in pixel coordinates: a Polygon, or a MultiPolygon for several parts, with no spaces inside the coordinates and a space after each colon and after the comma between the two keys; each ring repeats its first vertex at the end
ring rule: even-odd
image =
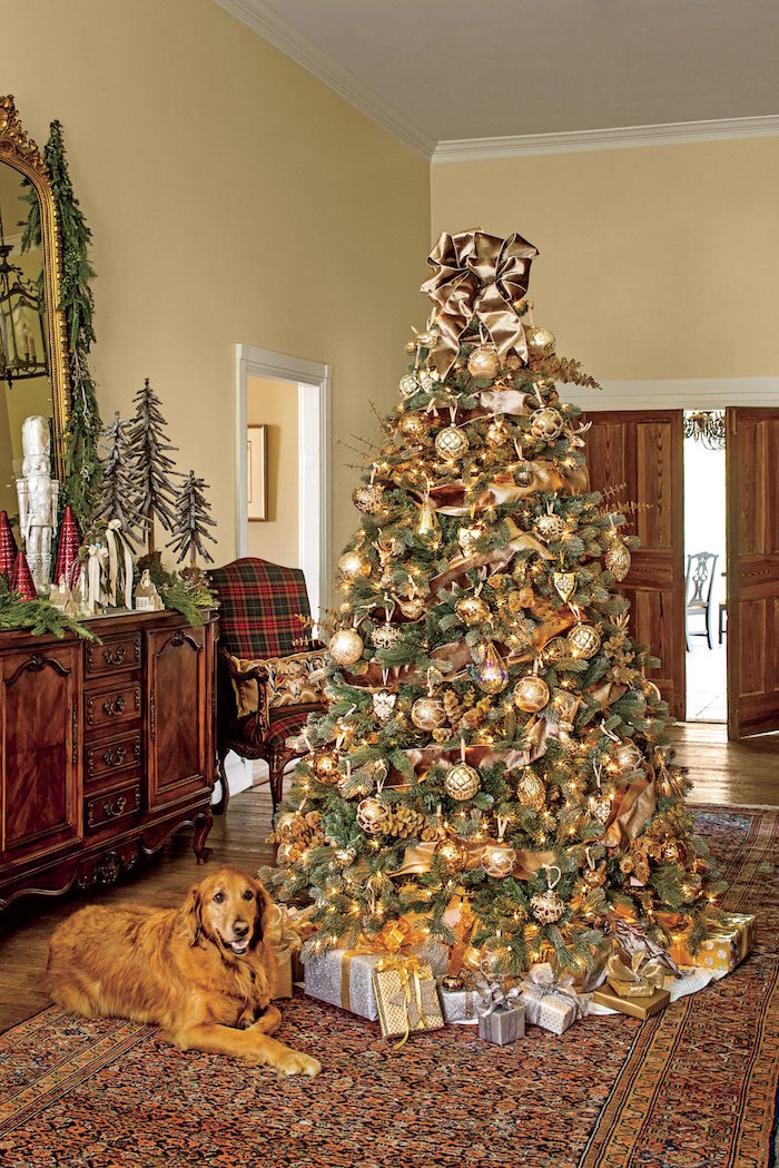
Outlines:
{"type": "Polygon", "coordinates": [[[684,718],[684,480],[681,410],[592,411],[587,465],[593,491],[619,488],[642,505],[624,529],[641,540],[621,591],[631,635],[660,658],[652,680],[674,717],[684,718]]]}

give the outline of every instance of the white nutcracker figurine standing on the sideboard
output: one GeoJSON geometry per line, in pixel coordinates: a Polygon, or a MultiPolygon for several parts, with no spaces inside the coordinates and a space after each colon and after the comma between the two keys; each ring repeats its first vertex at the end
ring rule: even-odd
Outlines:
{"type": "Polygon", "coordinates": [[[51,580],[51,542],[57,526],[60,484],[51,478],[49,423],[41,415],[22,423],[21,478],[16,479],[19,530],[39,596],[48,597],[51,580]]]}

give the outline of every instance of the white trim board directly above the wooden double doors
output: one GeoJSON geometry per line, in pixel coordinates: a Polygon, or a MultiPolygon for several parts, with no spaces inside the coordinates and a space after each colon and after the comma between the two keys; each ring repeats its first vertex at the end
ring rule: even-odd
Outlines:
{"type": "Polygon", "coordinates": [[[561,385],[561,396],[597,410],[724,410],[728,405],[779,406],[779,377],[667,377],[604,381],[601,388],[561,385]]]}

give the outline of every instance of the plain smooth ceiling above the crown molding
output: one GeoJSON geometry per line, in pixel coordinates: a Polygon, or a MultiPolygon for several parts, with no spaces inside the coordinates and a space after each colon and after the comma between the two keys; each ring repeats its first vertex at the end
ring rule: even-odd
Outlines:
{"type": "Polygon", "coordinates": [[[777,0],[217,0],[401,137],[779,113],[777,0]]]}

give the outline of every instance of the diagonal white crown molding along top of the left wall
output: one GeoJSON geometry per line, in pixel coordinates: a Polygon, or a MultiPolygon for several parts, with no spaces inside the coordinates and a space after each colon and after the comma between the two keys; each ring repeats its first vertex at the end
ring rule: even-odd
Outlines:
{"type": "Polygon", "coordinates": [[[325,85],[339,93],[355,109],[366,113],[395,138],[405,142],[406,146],[411,146],[419,154],[424,154],[426,159],[432,157],[436,146],[434,138],[429,138],[377,93],[356,81],[297,28],[272,12],[267,5],[263,4],[263,0],[216,0],[216,4],[265,41],[270,41],[285,56],[324,82],[325,85]]]}

